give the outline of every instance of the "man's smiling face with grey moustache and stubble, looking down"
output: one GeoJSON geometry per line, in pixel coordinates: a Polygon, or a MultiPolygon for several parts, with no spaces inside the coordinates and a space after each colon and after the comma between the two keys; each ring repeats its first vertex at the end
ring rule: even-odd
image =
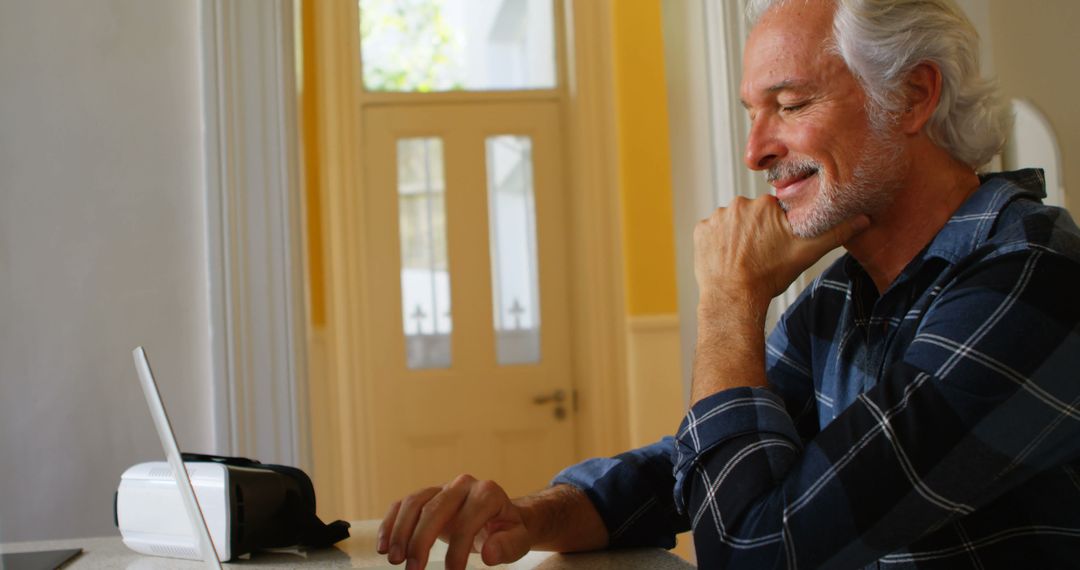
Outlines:
{"type": "Polygon", "coordinates": [[[875,128],[863,89],[831,49],[832,2],[767,12],[746,41],[741,96],[746,165],[765,171],[797,235],[886,207],[904,171],[903,137],[875,128]]]}

